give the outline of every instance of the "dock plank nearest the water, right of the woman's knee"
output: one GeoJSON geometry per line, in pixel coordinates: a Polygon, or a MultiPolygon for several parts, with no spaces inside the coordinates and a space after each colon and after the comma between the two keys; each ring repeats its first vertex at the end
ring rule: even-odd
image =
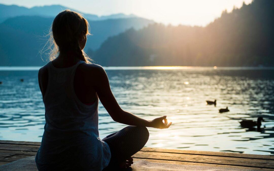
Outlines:
{"type": "Polygon", "coordinates": [[[160,149],[160,148],[149,148],[149,147],[144,147],[140,151],[178,153],[178,154],[195,154],[195,155],[210,155],[210,156],[229,156],[229,157],[238,157],[238,158],[253,158],[253,159],[274,160],[274,155],[254,155],[254,154],[239,154],[239,153],[210,152],[210,151],[160,149]]]}

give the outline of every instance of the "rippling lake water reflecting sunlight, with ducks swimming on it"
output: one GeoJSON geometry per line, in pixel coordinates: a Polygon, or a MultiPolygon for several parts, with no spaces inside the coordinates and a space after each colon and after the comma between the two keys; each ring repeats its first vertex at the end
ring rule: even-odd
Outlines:
{"type": "MultiPolygon", "coordinates": [[[[0,140],[41,141],[44,104],[39,67],[0,67],[0,140]],[[20,82],[24,79],[24,82],[20,82]]],[[[149,128],[146,147],[274,154],[274,69],[105,67],[121,107],[145,119],[167,115],[169,129],[149,128]],[[206,100],[217,100],[206,105],[206,100]],[[219,113],[228,106],[230,112],[219,113]],[[240,127],[263,117],[262,132],[240,127]]],[[[99,104],[104,138],[125,127],[99,104]]]]}

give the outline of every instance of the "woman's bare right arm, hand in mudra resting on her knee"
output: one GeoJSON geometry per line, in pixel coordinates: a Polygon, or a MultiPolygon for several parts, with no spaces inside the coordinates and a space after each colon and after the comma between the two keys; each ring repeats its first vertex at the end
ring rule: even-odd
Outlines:
{"type": "Polygon", "coordinates": [[[95,77],[95,79],[92,84],[102,105],[105,107],[114,121],[132,126],[154,127],[159,129],[168,128],[172,124],[171,122],[167,122],[166,116],[155,118],[154,120],[150,121],[142,119],[130,112],[121,109],[114,95],[112,94],[109,85],[109,79],[105,73],[105,70],[100,65],[93,64],[93,66],[95,67],[92,69],[92,75],[95,77]]]}

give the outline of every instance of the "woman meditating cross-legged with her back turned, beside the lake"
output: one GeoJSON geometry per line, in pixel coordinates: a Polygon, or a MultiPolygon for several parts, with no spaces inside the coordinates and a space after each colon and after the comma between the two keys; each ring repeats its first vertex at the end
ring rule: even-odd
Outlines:
{"type": "Polygon", "coordinates": [[[133,154],[149,138],[146,127],[168,128],[166,116],[152,121],[120,108],[107,74],[91,64],[83,49],[88,22],[65,10],[52,24],[55,48],[50,62],[39,69],[45,105],[45,126],[35,162],[39,170],[102,170],[129,167],[133,154]],[[130,126],[99,138],[98,101],[116,122],[130,126]]]}

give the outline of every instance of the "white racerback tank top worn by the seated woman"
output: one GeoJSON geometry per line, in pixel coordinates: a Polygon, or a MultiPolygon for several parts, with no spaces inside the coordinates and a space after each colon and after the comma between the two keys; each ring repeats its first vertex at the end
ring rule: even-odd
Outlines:
{"type": "Polygon", "coordinates": [[[85,105],[74,92],[75,70],[81,63],[85,62],[68,68],[55,68],[52,61],[46,64],[48,85],[43,97],[46,123],[35,158],[39,170],[56,166],[71,169],[70,164],[78,164],[83,170],[102,170],[109,164],[109,146],[99,138],[98,96],[93,105],[85,105]]]}

